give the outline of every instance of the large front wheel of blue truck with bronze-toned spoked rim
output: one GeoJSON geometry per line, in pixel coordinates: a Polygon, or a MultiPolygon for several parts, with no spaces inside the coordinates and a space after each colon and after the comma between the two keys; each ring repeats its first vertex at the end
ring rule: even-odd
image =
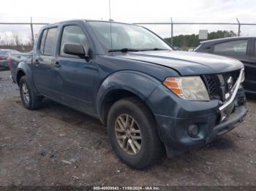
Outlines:
{"type": "Polygon", "coordinates": [[[111,106],[108,113],[108,136],[116,155],[132,168],[148,168],[165,153],[153,115],[135,97],[123,98],[111,106]],[[126,128],[129,127],[125,133],[124,124],[126,128]],[[131,125],[133,128],[130,128],[131,125]]]}

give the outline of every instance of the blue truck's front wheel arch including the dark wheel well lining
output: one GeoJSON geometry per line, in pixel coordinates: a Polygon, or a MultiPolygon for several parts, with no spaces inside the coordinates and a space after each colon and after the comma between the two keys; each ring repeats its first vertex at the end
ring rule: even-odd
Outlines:
{"type": "Polygon", "coordinates": [[[99,87],[96,100],[99,120],[106,124],[110,107],[119,99],[136,97],[145,104],[154,116],[147,98],[161,82],[138,71],[119,71],[111,74],[99,87]]]}

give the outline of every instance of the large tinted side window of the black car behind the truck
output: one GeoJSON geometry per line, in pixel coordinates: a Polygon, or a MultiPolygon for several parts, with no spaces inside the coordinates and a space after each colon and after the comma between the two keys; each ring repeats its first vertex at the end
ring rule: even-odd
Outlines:
{"type": "Polygon", "coordinates": [[[236,40],[216,44],[214,53],[220,55],[246,55],[248,40],[236,40]]]}

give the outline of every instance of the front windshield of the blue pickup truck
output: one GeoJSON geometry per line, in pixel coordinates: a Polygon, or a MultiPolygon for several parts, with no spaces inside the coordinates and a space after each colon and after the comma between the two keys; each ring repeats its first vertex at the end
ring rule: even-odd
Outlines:
{"type": "Polygon", "coordinates": [[[123,23],[89,21],[94,34],[107,50],[172,50],[157,35],[146,28],[123,23]],[[111,42],[112,36],[112,42],[111,42]],[[112,44],[112,45],[111,45],[112,44]]]}

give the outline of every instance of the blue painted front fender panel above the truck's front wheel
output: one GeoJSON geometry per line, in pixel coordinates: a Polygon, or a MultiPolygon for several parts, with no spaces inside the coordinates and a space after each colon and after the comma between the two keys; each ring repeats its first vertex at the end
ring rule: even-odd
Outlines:
{"type": "Polygon", "coordinates": [[[127,90],[146,100],[160,84],[159,80],[139,71],[117,71],[110,74],[102,82],[97,93],[96,109],[100,120],[102,120],[102,105],[109,93],[127,90]]]}

